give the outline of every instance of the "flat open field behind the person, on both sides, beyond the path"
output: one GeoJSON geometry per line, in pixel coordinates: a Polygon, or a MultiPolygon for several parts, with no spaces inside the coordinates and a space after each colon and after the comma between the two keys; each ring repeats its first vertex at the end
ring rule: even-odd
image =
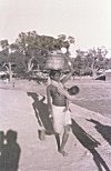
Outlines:
{"type": "MultiPolygon", "coordinates": [[[[2,84],[6,89],[11,87],[10,84],[2,84]]],[[[74,79],[70,80],[67,83],[67,87],[71,87],[73,84],[77,84],[80,88],[77,99],[83,98],[83,100],[74,100],[74,104],[111,118],[111,82],[91,80],[89,78],[74,79]]],[[[38,84],[33,81],[17,80],[14,89],[33,92],[39,91],[40,94],[46,94],[46,87],[47,84],[38,84]]]]}

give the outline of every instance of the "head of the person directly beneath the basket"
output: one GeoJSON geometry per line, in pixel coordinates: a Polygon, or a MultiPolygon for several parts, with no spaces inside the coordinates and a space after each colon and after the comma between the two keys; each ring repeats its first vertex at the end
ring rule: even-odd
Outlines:
{"type": "Polygon", "coordinates": [[[61,70],[51,70],[49,77],[54,81],[60,81],[61,70]]]}

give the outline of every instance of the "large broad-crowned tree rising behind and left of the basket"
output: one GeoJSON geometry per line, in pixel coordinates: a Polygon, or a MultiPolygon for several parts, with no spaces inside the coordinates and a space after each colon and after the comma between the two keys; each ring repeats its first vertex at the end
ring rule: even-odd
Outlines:
{"type": "Polygon", "coordinates": [[[43,66],[49,52],[60,50],[62,47],[69,47],[68,41],[49,36],[39,36],[36,31],[21,32],[16,40],[16,44],[26,58],[27,72],[43,66]]]}

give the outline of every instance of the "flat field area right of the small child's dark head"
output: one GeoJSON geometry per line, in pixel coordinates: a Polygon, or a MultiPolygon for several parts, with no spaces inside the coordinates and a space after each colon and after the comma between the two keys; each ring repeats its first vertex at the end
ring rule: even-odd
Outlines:
{"type": "Polygon", "coordinates": [[[84,98],[83,100],[74,100],[74,104],[111,118],[111,82],[97,80],[83,82],[80,80],[73,83],[80,88],[78,97],[84,98]]]}

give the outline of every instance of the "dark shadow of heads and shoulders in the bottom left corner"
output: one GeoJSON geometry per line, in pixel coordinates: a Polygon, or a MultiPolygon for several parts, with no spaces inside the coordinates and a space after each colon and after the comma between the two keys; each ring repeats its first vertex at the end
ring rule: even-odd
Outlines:
{"type": "Polygon", "coordinates": [[[0,171],[18,171],[21,149],[17,142],[17,132],[0,131],[0,171]]]}

